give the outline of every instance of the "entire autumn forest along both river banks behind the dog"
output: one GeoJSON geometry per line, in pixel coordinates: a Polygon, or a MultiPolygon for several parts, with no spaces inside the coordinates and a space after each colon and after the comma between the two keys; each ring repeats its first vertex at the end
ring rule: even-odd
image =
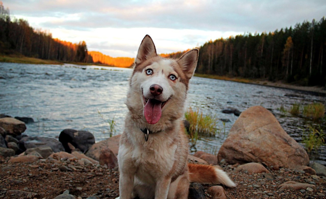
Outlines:
{"type": "MultiPolygon", "coordinates": [[[[0,54],[129,67],[134,58],[112,58],[78,44],[52,38],[49,31],[35,30],[22,19],[10,20],[9,9],[0,1],[0,54]]],[[[326,84],[326,21],[304,21],[294,28],[270,33],[230,36],[199,47],[196,73],[262,78],[301,85],[326,84]]],[[[161,54],[178,58],[185,51],[161,54]]]]}

